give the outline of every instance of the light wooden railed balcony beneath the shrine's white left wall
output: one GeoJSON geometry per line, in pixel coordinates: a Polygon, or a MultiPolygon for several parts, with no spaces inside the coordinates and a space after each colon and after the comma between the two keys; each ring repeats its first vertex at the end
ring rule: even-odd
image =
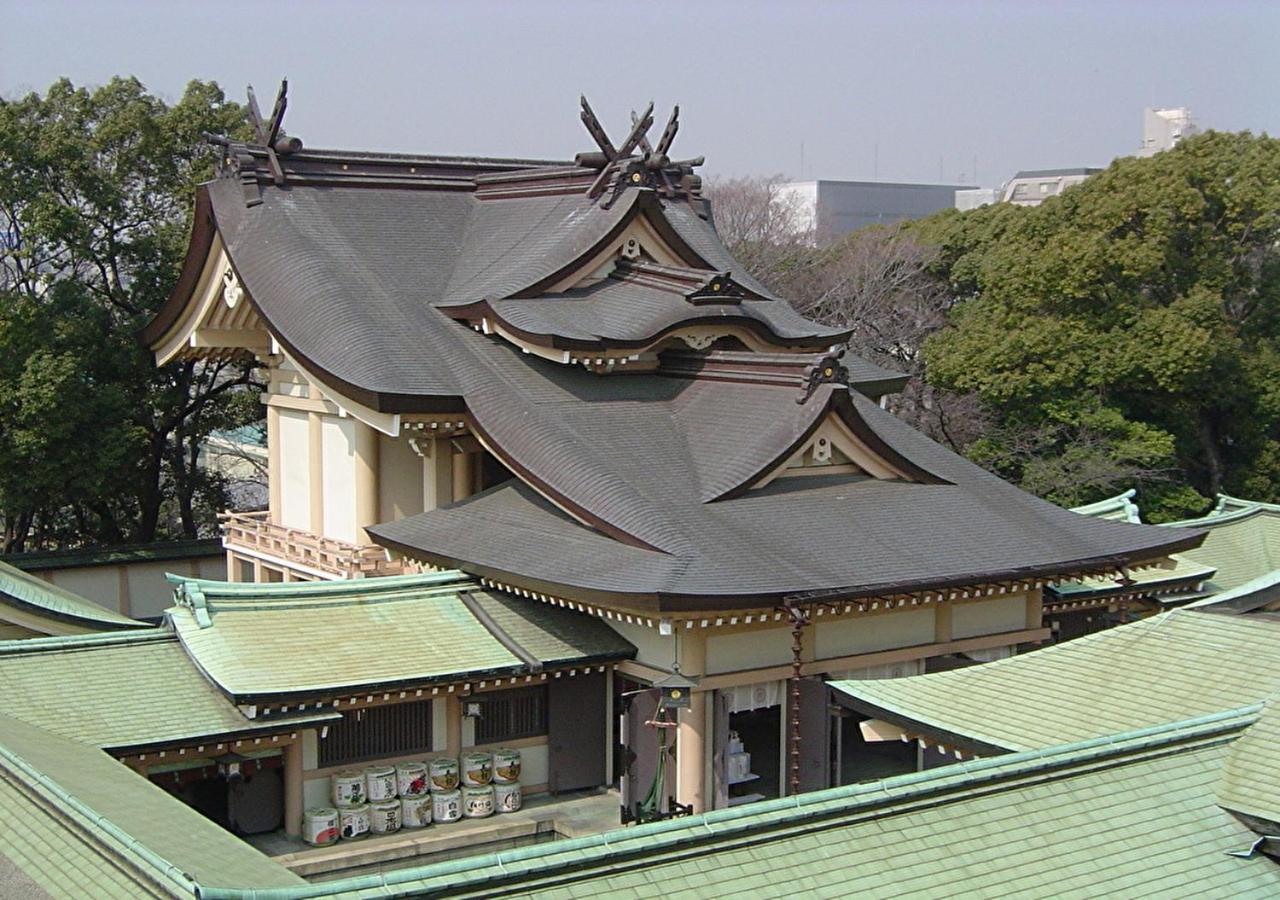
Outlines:
{"type": "Polygon", "coordinates": [[[250,556],[275,561],[287,568],[330,579],[366,579],[379,575],[404,575],[406,563],[387,558],[378,544],[348,544],[312,531],[291,529],[268,521],[266,512],[224,512],[219,515],[223,545],[247,550],[250,556]]]}

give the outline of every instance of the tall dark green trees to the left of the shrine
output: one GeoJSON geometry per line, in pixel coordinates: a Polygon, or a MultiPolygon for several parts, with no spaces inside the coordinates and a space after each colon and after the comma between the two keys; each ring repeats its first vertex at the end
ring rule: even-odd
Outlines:
{"type": "Polygon", "coordinates": [[[216,84],[133,78],[0,101],[0,515],[5,552],[206,530],[204,437],[256,417],[250,369],[156,369],[137,338],[177,280],[193,187],[243,128],[216,84]]]}

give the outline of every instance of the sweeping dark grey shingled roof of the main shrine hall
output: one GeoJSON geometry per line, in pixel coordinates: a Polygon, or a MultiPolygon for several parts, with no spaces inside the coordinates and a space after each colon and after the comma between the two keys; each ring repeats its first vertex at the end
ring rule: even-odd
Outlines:
{"type": "Polygon", "coordinates": [[[1062,572],[1199,539],[1038,501],[844,387],[797,402],[795,382],[599,376],[522,353],[438,309],[515,293],[530,297],[513,306],[541,303],[541,282],[641,210],[682,252],[768,296],[687,201],[627,191],[604,209],[577,193],[479,200],[291,184],[266,186],[262,202],[246,206],[236,181],[206,189],[228,252],[285,348],[375,408],[466,410],[485,444],[554,503],[512,483],[372,529],[388,544],[584,590],[759,599],[1062,572]],[[737,497],[832,410],[918,483],[818,478],[737,497]],[[594,558],[575,545],[595,548],[594,558]]]}

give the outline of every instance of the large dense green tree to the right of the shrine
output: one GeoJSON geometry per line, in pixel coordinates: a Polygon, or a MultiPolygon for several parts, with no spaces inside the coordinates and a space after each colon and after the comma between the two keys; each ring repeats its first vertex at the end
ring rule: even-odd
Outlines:
{"type": "Polygon", "coordinates": [[[997,422],[974,458],[1061,503],[1143,484],[1155,520],[1280,499],[1280,142],[1210,132],[915,232],[955,303],[929,379],[997,422]]]}

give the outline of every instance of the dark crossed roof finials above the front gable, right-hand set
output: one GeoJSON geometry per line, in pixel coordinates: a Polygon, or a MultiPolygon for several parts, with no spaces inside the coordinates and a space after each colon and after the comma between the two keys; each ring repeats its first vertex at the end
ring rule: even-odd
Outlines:
{"type": "Polygon", "coordinates": [[[680,106],[672,108],[671,118],[667,119],[667,127],[662,129],[662,137],[658,138],[657,145],[649,143],[648,137],[649,129],[653,128],[653,102],[650,101],[640,115],[632,110],[631,132],[620,146],[614,147],[591,105],[586,102],[586,97],[581,97],[581,101],[582,124],[586,125],[586,131],[600,149],[573,157],[581,166],[600,170],[595,181],[591,182],[591,187],[586,189],[586,196],[594,200],[603,195],[612,178],[613,193],[609,195],[605,206],[611,206],[627,187],[649,187],[669,197],[675,196],[677,191],[677,182],[672,179],[672,175],[678,179],[680,187],[687,193],[698,193],[701,188],[701,178],[694,174],[694,168],[701,165],[704,159],[698,156],[690,160],[672,161],[668,156],[671,143],[676,140],[676,132],[680,131],[680,106]],[[636,150],[640,152],[637,154],[636,150]]]}

